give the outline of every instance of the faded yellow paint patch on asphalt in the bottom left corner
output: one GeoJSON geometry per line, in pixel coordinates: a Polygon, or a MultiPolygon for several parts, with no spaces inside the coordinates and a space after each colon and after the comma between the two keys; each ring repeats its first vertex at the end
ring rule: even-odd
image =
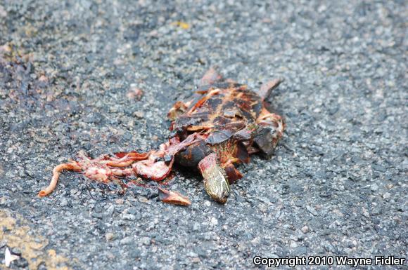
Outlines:
{"type": "MultiPolygon", "coordinates": [[[[21,257],[27,259],[28,268],[36,270],[39,264],[45,264],[49,270],[70,270],[66,257],[58,255],[56,250],[46,249],[49,241],[43,236],[34,234],[28,222],[18,214],[11,214],[6,210],[0,210],[0,241],[10,248],[18,248],[21,257]]],[[[3,258],[0,258],[0,262],[3,258]]],[[[0,264],[1,269],[7,269],[0,264]]]]}

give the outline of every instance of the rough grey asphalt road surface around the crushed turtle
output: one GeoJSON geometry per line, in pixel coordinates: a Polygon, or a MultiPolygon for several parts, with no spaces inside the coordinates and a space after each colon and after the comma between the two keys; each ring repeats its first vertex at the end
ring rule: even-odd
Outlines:
{"type": "Polygon", "coordinates": [[[0,268],[407,269],[407,17],[406,1],[0,0],[0,268]],[[158,147],[213,66],[250,88],[285,79],[269,100],[283,140],[239,166],[226,205],[182,168],[189,207],[68,172],[37,197],[79,150],[158,147]]]}

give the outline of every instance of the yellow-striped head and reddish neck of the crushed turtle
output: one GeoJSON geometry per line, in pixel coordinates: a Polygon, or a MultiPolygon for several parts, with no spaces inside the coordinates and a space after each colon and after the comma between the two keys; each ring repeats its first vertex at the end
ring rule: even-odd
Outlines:
{"type": "Polygon", "coordinates": [[[219,166],[217,154],[205,156],[198,169],[204,177],[204,188],[208,195],[219,203],[226,203],[229,196],[229,182],[225,170],[219,166]]]}

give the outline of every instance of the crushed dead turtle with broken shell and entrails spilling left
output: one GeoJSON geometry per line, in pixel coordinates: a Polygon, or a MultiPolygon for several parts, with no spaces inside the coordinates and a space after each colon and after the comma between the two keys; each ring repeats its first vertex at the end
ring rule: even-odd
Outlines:
{"type": "MultiPolygon", "coordinates": [[[[191,98],[177,101],[170,109],[167,116],[172,135],[158,150],[120,152],[94,159],[79,152],[77,161],[53,169],[49,187],[39,191],[39,196],[56,188],[63,170],[81,172],[98,182],[113,181],[126,189],[132,181],[125,184],[120,178],[141,177],[160,183],[169,177],[176,162],[198,168],[208,195],[226,203],[230,184],[243,177],[234,163],[248,163],[250,154],[255,153],[271,156],[283,135],[285,124],[281,116],[264,107],[264,101],[281,81],[269,81],[254,91],[209,69],[191,98]]],[[[158,187],[158,193],[165,203],[191,204],[178,192],[158,187]]]]}

